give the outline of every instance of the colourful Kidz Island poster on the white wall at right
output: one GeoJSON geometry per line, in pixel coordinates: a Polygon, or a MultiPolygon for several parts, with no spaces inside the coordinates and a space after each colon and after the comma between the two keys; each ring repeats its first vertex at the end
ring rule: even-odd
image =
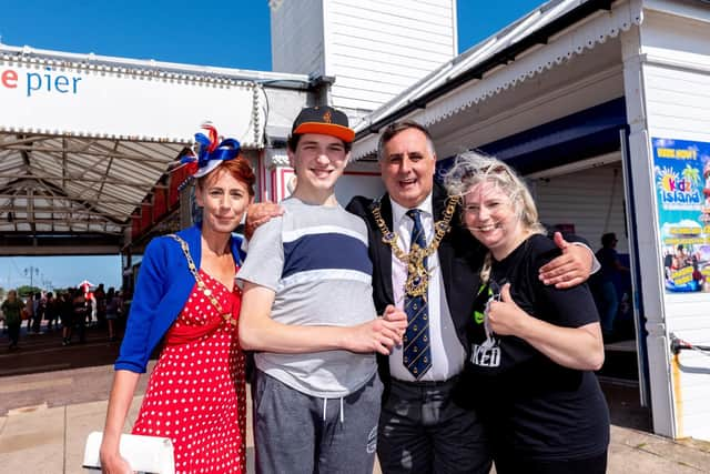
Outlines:
{"type": "Polygon", "coordinates": [[[666,291],[710,292],[710,143],[652,145],[666,291]]]}

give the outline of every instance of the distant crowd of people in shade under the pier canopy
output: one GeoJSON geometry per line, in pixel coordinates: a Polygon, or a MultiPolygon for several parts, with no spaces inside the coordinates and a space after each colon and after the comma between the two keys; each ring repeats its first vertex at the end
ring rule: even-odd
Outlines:
{"type": "Polygon", "coordinates": [[[22,323],[28,336],[62,332],[62,345],[85,343],[87,327],[106,331],[109,342],[118,341],[119,324],[125,315],[123,293],[103,283],[91,291],[89,285],[57,291],[19,294],[9,290],[0,306],[2,334],[8,336],[9,350],[20,347],[22,323]]]}

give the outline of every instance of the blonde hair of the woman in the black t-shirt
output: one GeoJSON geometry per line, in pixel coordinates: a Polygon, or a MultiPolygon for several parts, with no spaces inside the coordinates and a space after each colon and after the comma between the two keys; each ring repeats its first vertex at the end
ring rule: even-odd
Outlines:
{"type": "MultiPolygon", "coordinates": [[[[449,195],[464,198],[471,188],[489,182],[500,189],[510,200],[523,228],[534,234],[545,234],[545,228],[539,222],[537,206],[532,195],[523,179],[505,162],[479,152],[467,151],[456,157],[452,169],[444,175],[444,185],[449,195]]],[[[486,255],[480,270],[484,284],[490,278],[493,258],[486,255]]]]}

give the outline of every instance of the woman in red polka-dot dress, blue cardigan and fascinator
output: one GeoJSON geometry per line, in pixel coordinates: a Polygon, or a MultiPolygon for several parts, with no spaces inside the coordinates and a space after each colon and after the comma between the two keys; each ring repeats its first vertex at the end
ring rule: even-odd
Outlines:
{"type": "Polygon", "coordinates": [[[109,400],[101,465],[131,473],[119,441],[141,373],[164,337],[133,434],[171,438],[176,473],[246,472],[241,293],[242,240],[232,234],[254,199],[254,173],[233,139],[203,125],[183,159],[202,221],[145,249],[109,400]]]}

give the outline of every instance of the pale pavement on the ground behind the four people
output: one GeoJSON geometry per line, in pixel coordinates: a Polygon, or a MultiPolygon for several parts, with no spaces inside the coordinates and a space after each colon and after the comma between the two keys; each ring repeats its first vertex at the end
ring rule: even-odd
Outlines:
{"type": "MultiPolygon", "coordinates": [[[[115,356],[118,343],[94,329],[81,345],[62,347],[61,337],[51,333],[23,337],[20,344],[20,351],[0,351],[0,472],[88,472],[81,467],[84,443],[90,432],[103,427],[113,377],[111,364],[103,361],[115,356]]],[[[638,386],[609,375],[601,380],[612,421],[609,473],[710,473],[710,443],[651,434],[650,413],[639,404],[638,386]]],[[[141,377],[126,431],[146,382],[148,376],[141,377]]],[[[246,441],[247,470],[253,472],[251,430],[246,441]]]]}

